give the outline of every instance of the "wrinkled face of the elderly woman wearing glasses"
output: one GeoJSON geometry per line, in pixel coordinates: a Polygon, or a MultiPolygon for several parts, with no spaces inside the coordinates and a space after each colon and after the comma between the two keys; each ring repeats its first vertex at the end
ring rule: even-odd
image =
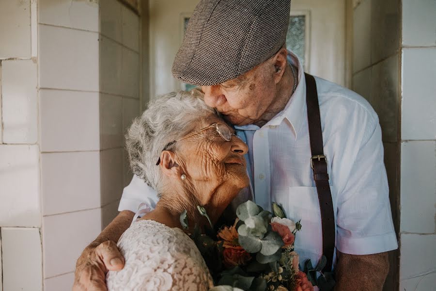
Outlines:
{"type": "MultiPolygon", "coordinates": [[[[226,124],[217,116],[204,118],[193,131],[218,122],[226,124]]],[[[229,129],[234,133],[234,129],[229,129]]],[[[248,147],[238,137],[233,135],[230,141],[225,141],[215,128],[211,128],[178,143],[176,154],[180,156],[179,164],[194,187],[212,188],[204,189],[210,192],[218,187],[234,190],[248,186],[249,178],[244,159],[248,147]]]]}

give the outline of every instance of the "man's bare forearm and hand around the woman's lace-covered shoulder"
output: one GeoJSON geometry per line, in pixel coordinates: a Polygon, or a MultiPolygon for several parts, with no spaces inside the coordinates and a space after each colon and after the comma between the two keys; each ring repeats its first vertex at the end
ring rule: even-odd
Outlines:
{"type": "Polygon", "coordinates": [[[106,273],[124,267],[117,242],[135,213],[121,211],[82,252],[76,263],[73,291],[107,291],[106,273]]]}

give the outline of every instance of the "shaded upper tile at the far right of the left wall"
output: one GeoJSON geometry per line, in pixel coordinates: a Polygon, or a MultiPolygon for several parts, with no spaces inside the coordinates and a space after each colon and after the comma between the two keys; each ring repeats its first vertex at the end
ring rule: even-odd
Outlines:
{"type": "Polygon", "coordinates": [[[122,43],[130,49],[139,52],[139,31],[140,31],[140,19],[132,10],[123,6],[121,8],[121,19],[123,21],[122,26],[122,43]]]}

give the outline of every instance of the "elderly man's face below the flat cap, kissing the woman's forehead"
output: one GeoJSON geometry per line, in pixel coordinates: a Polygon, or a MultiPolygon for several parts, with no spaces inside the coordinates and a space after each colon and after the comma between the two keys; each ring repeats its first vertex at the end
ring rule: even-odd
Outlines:
{"type": "Polygon", "coordinates": [[[234,125],[253,124],[275,97],[273,65],[261,64],[241,77],[214,86],[202,86],[204,101],[234,125]]]}

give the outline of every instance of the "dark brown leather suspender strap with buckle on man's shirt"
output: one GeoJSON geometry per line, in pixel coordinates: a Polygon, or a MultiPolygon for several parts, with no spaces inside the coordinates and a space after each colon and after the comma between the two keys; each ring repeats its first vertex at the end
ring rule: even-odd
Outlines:
{"type": "Polygon", "coordinates": [[[324,271],[330,272],[335,249],[335,218],[333,203],[328,184],[327,158],[324,155],[323,132],[321,129],[321,115],[319,113],[318,93],[315,78],[306,74],[306,104],[309,122],[309,136],[311,140],[311,168],[318,192],[319,207],[321,210],[321,223],[323,229],[323,255],[327,258],[324,271]]]}

